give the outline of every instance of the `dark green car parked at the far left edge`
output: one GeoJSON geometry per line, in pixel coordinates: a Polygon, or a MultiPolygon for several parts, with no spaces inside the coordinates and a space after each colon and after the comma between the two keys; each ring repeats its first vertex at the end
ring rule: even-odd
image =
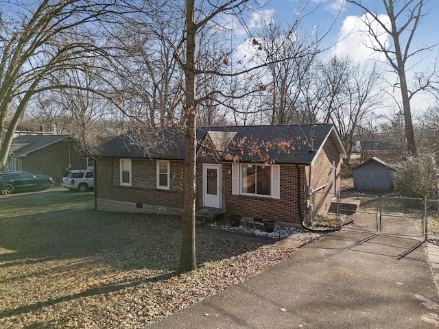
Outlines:
{"type": "Polygon", "coordinates": [[[2,195],[32,189],[44,190],[53,185],[54,181],[52,178],[45,175],[34,175],[26,171],[0,172],[0,193],[2,195]]]}

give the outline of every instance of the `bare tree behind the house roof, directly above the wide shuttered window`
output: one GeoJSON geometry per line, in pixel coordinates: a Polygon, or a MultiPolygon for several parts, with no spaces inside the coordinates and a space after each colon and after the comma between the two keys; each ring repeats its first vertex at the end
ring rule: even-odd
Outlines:
{"type": "Polygon", "coordinates": [[[313,117],[308,112],[312,106],[307,103],[311,96],[309,72],[322,51],[322,35],[317,29],[302,29],[305,16],[296,16],[286,27],[267,19],[253,40],[258,47],[255,56],[267,63],[260,84],[266,85],[263,103],[271,112],[272,124],[306,123],[313,117]]]}

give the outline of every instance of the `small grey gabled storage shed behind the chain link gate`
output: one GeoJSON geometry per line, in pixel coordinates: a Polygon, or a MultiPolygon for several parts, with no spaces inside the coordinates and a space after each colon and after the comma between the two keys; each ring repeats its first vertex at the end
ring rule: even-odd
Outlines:
{"type": "Polygon", "coordinates": [[[394,187],[395,169],[383,160],[372,157],[353,169],[354,188],[368,191],[386,191],[394,187]]]}

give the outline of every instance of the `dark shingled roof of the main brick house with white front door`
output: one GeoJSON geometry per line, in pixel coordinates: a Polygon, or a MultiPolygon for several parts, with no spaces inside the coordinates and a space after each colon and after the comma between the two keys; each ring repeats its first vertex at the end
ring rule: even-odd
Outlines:
{"type": "MultiPolygon", "coordinates": [[[[346,149],[331,124],[199,127],[197,139],[199,145],[203,141],[209,143],[222,161],[238,157],[241,162],[273,160],[279,164],[312,164],[329,139],[333,140],[339,154],[346,157],[346,149]]],[[[122,134],[102,145],[99,155],[184,160],[185,135],[173,130],[122,134]]]]}

